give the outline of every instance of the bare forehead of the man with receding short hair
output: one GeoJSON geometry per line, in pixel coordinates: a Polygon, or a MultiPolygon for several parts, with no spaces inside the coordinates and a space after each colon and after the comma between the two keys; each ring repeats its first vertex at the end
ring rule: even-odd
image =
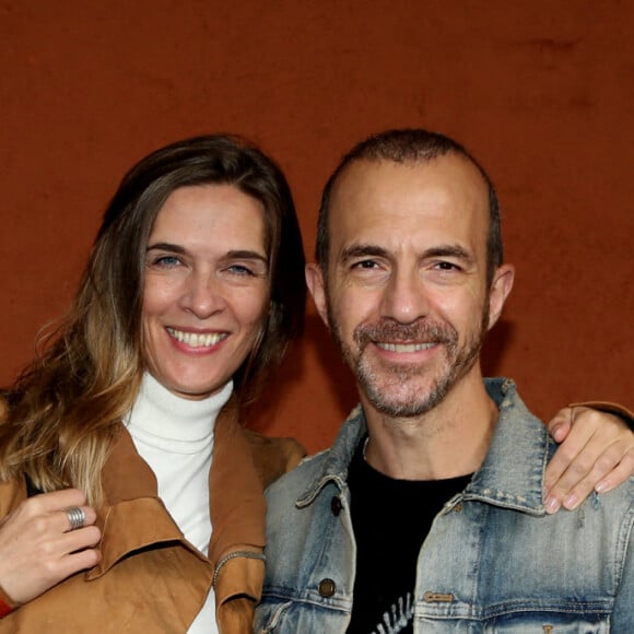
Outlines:
{"type": "Polygon", "coordinates": [[[483,257],[489,222],[488,185],[459,154],[355,161],[333,189],[330,256],[339,259],[359,245],[394,254],[453,245],[483,257]]]}

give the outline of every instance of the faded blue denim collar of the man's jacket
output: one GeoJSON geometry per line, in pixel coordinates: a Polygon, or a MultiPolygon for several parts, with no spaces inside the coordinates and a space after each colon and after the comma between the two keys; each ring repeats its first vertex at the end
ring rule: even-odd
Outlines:
{"type": "MultiPolygon", "coordinates": [[[[554,442],[543,423],[528,411],[513,380],[485,378],[484,385],[500,414],[484,462],[461,495],[543,515],[544,471],[554,442]]],[[[297,508],[312,504],[328,482],[334,482],[340,490],[347,488],[348,466],[366,430],[363,409],[359,404],[339,431],[321,474],[296,501],[297,508]]],[[[453,502],[448,504],[453,505],[453,502]]]]}

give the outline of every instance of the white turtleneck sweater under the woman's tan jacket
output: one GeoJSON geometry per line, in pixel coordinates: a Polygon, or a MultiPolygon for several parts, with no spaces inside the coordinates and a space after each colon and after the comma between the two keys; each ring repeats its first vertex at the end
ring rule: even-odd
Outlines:
{"type": "MultiPolygon", "coordinates": [[[[185,538],[206,555],[212,530],[209,469],[213,431],[232,389],[230,381],[206,399],[189,400],[172,394],[145,373],[125,420],[139,455],[156,476],[161,500],[185,538]]],[[[198,632],[218,632],[213,591],[189,629],[190,634],[198,632]]]]}

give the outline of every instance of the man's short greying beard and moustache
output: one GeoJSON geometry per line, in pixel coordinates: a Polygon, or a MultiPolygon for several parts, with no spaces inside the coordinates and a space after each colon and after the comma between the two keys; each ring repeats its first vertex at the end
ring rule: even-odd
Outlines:
{"type": "Polygon", "coordinates": [[[479,330],[462,347],[458,344],[458,331],[450,324],[421,319],[411,325],[402,325],[384,320],[376,326],[362,325],[354,330],[354,342],[359,350],[355,354],[343,342],[330,306],[328,310],[332,337],[354,373],[361,390],[377,411],[391,418],[420,416],[441,403],[454,385],[467,375],[478,361],[489,326],[489,297],[486,297],[479,330]],[[421,368],[418,365],[384,365],[383,377],[379,377],[363,354],[371,341],[438,343],[444,347],[447,371],[436,377],[431,387],[423,392],[418,390],[407,400],[402,397],[399,399],[398,395],[391,397],[408,379],[421,375],[421,368]]]}

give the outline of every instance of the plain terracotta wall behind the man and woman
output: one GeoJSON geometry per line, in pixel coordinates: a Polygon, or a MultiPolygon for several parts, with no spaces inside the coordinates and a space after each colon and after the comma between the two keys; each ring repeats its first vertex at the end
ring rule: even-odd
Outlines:
{"type": "MultiPolygon", "coordinates": [[[[0,0],[0,384],[58,316],[119,178],[236,131],[286,171],[309,254],[321,185],[367,133],[424,126],[495,180],[518,279],[486,352],[541,415],[633,406],[634,3],[0,0]]],[[[312,307],[253,424],[330,443],[354,402],[312,307]]]]}

